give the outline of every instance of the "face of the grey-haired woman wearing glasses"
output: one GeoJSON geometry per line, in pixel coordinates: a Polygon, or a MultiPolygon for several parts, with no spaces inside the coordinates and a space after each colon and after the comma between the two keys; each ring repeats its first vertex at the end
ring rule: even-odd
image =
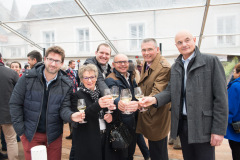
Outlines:
{"type": "Polygon", "coordinates": [[[96,81],[97,81],[97,77],[96,77],[94,71],[83,72],[83,77],[81,78],[81,82],[83,83],[83,85],[86,88],[88,88],[90,90],[94,90],[95,85],[96,85],[96,81]]]}

